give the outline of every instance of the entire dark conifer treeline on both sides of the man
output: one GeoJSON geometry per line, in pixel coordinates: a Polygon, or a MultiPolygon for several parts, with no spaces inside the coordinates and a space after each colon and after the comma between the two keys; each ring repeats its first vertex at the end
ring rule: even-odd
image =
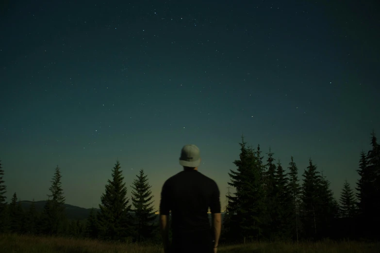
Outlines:
{"type": "MultiPolygon", "coordinates": [[[[275,160],[270,148],[264,160],[260,145],[254,149],[242,137],[240,146],[239,159],[233,162],[237,169],[229,173],[228,184],[235,193],[226,196],[228,205],[220,243],[379,238],[380,145],[374,132],[372,148],[360,153],[357,193],[343,176],[339,200],[334,198],[329,180],[317,170],[312,158],[299,179],[293,157],[288,165],[283,165],[280,159],[275,160]]],[[[34,202],[23,210],[17,203],[16,192],[7,204],[3,175],[0,163],[0,233],[161,242],[158,223],[154,222],[157,215],[151,201],[151,186],[143,170],[136,175],[128,199],[120,163],[116,161],[101,195],[100,210],[93,208],[86,221],[66,218],[58,166],[41,213],[36,212],[34,202]]]]}

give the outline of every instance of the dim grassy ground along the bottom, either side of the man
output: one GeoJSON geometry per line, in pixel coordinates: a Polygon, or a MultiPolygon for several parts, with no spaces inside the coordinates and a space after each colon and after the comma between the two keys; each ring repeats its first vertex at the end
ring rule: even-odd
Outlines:
{"type": "MultiPolygon", "coordinates": [[[[1,253],[163,253],[159,246],[97,240],[0,235],[1,253]]],[[[379,243],[250,243],[219,246],[219,253],[379,253],[379,243]]]]}

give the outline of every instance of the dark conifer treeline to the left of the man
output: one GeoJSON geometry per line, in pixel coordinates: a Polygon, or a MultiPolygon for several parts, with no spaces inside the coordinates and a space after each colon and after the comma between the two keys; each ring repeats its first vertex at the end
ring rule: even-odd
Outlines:
{"type": "MultiPolygon", "coordinates": [[[[0,161],[1,162],[1,161],[0,161]]],[[[92,208],[86,221],[66,218],[65,197],[61,183],[61,171],[57,166],[49,188],[50,194],[44,209],[38,213],[34,200],[29,209],[24,210],[13,194],[10,204],[6,203],[3,180],[4,171],[0,163],[0,233],[29,235],[87,237],[93,239],[160,242],[161,234],[153,209],[153,195],[144,170],[140,170],[131,186],[131,199],[127,198],[127,187],[119,161],[112,170],[101,195],[100,210],[92,208]]]]}

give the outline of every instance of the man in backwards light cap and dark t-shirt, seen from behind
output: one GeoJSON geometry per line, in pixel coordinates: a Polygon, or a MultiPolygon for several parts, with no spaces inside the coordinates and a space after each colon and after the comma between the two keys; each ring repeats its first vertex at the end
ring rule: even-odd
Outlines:
{"type": "Polygon", "coordinates": [[[200,172],[199,148],[185,145],[183,171],[167,179],[161,191],[160,227],[165,253],[216,253],[220,230],[220,192],[215,181],[200,172]],[[212,229],[208,208],[212,213],[212,229]],[[169,245],[169,211],[172,244],[169,245]]]}

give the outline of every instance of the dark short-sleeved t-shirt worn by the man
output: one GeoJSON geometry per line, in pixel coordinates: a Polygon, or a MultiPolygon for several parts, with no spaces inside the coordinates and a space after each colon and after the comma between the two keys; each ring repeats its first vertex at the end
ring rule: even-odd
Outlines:
{"type": "MultiPolygon", "coordinates": [[[[215,181],[197,170],[182,171],[167,179],[161,192],[160,213],[171,210],[175,238],[211,235],[208,208],[220,213],[220,192],[215,181]]],[[[182,240],[182,239],[181,239],[182,240]]]]}

